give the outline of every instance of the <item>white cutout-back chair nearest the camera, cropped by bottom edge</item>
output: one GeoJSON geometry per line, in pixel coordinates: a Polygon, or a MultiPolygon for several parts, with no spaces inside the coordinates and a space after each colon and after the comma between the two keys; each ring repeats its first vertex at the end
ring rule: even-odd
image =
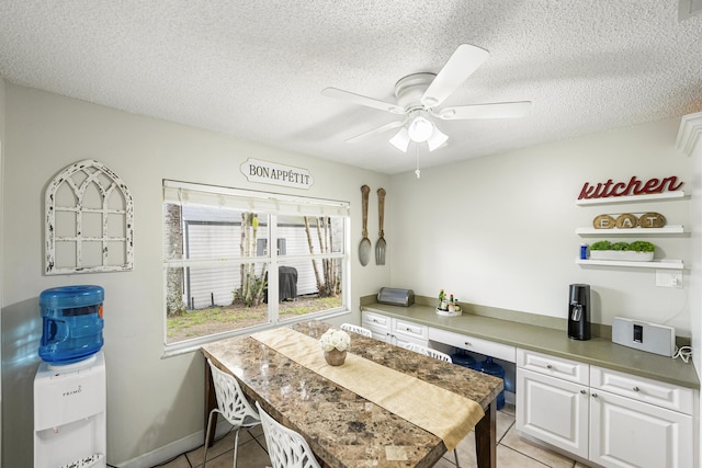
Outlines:
{"type": "Polygon", "coordinates": [[[256,408],[261,416],[268,456],[273,468],[321,468],[302,435],[271,418],[258,401],[256,408]]]}

